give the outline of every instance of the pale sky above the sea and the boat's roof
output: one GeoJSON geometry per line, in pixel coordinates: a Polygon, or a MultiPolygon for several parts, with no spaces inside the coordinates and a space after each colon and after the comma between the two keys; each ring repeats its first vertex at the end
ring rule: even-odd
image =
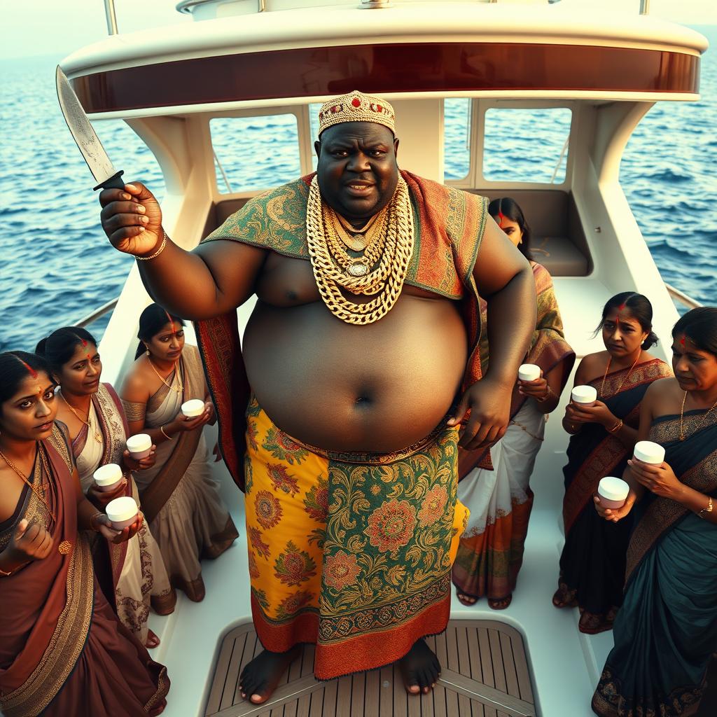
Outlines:
{"type": "MultiPolygon", "coordinates": [[[[191,22],[176,11],[178,1],[115,0],[120,32],[191,22]]],[[[640,0],[562,0],[562,4],[637,14],[640,0]]],[[[107,34],[103,0],[6,0],[1,13],[1,59],[62,56],[107,34]]],[[[717,24],[717,1],[650,0],[650,14],[682,24],[717,24]]]]}

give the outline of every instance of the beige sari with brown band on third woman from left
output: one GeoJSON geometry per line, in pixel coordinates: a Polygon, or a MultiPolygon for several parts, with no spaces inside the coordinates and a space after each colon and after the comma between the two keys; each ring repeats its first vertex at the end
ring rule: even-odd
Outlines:
{"type": "MultiPolygon", "coordinates": [[[[150,397],[146,415],[137,412],[136,404],[125,402],[128,419],[145,419],[148,428],[158,428],[173,420],[185,401],[204,401],[204,374],[196,347],[184,347],[179,370],[183,391],[162,386],[150,397]]],[[[179,386],[176,374],[170,379],[169,385],[179,386]]],[[[239,535],[219,498],[208,461],[203,430],[180,432],[158,445],[153,467],[135,474],[143,511],[171,584],[195,602],[204,597],[199,560],[217,558],[239,535]]]]}

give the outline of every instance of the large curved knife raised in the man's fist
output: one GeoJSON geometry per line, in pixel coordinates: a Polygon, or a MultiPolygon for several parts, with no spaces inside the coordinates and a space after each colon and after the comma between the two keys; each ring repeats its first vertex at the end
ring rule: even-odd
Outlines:
{"type": "Polygon", "coordinates": [[[60,102],[62,114],[65,115],[67,128],[70,130],[75,143],[77,143],[77,148],[85,158],[92,176],[95,177],[95,181],[98,183],[94,188],[95,191],[98,189],[124,189],[125,183],[121,179],[124,171],[122,169],[117,171],[112,161],[110,161],[105,148],[100,142],[100,138],[92,128],[90,120],[87,119],[85,109],[80,104],[80,100],[77,99],[75,90],[72,90],[72,86],[67,77],[65,77],[65,72],[60,69],[60,65],[57,65],[55,82],[57,84],[57,100],[60,102]]]}

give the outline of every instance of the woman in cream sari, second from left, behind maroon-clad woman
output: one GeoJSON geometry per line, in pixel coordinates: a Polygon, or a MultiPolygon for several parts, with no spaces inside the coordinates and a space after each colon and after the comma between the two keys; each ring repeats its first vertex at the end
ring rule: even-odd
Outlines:
{"type": "MultiPolygon", "coordinates": [[[[60,328],[40,341],[37,353],[47,360],[60,386],[57,418],[70,431],[82,491],[101,510],[120,495],[131,495],[139,505],[132,471],[152,467],[154,454],[136,461],[125,449],[127,420],[115,389],[100,383],[102,361],[95,338],[83,328],[60,328]],[[97,490],[92,475],[108,463],[120,465],[125,478],[115,490],[97,490]]],[[[151,604],[158,614],[169,614],[174,610],[176,593],[149,526],[143,523],[126,543],[98,543],[93,554],[97,558],[95,572],[98,576],[108,574],[112,582],[108,602],[125,627],[146,647],[159,645],[159,638],[147,625],[149,607],[151,604]]]]}

